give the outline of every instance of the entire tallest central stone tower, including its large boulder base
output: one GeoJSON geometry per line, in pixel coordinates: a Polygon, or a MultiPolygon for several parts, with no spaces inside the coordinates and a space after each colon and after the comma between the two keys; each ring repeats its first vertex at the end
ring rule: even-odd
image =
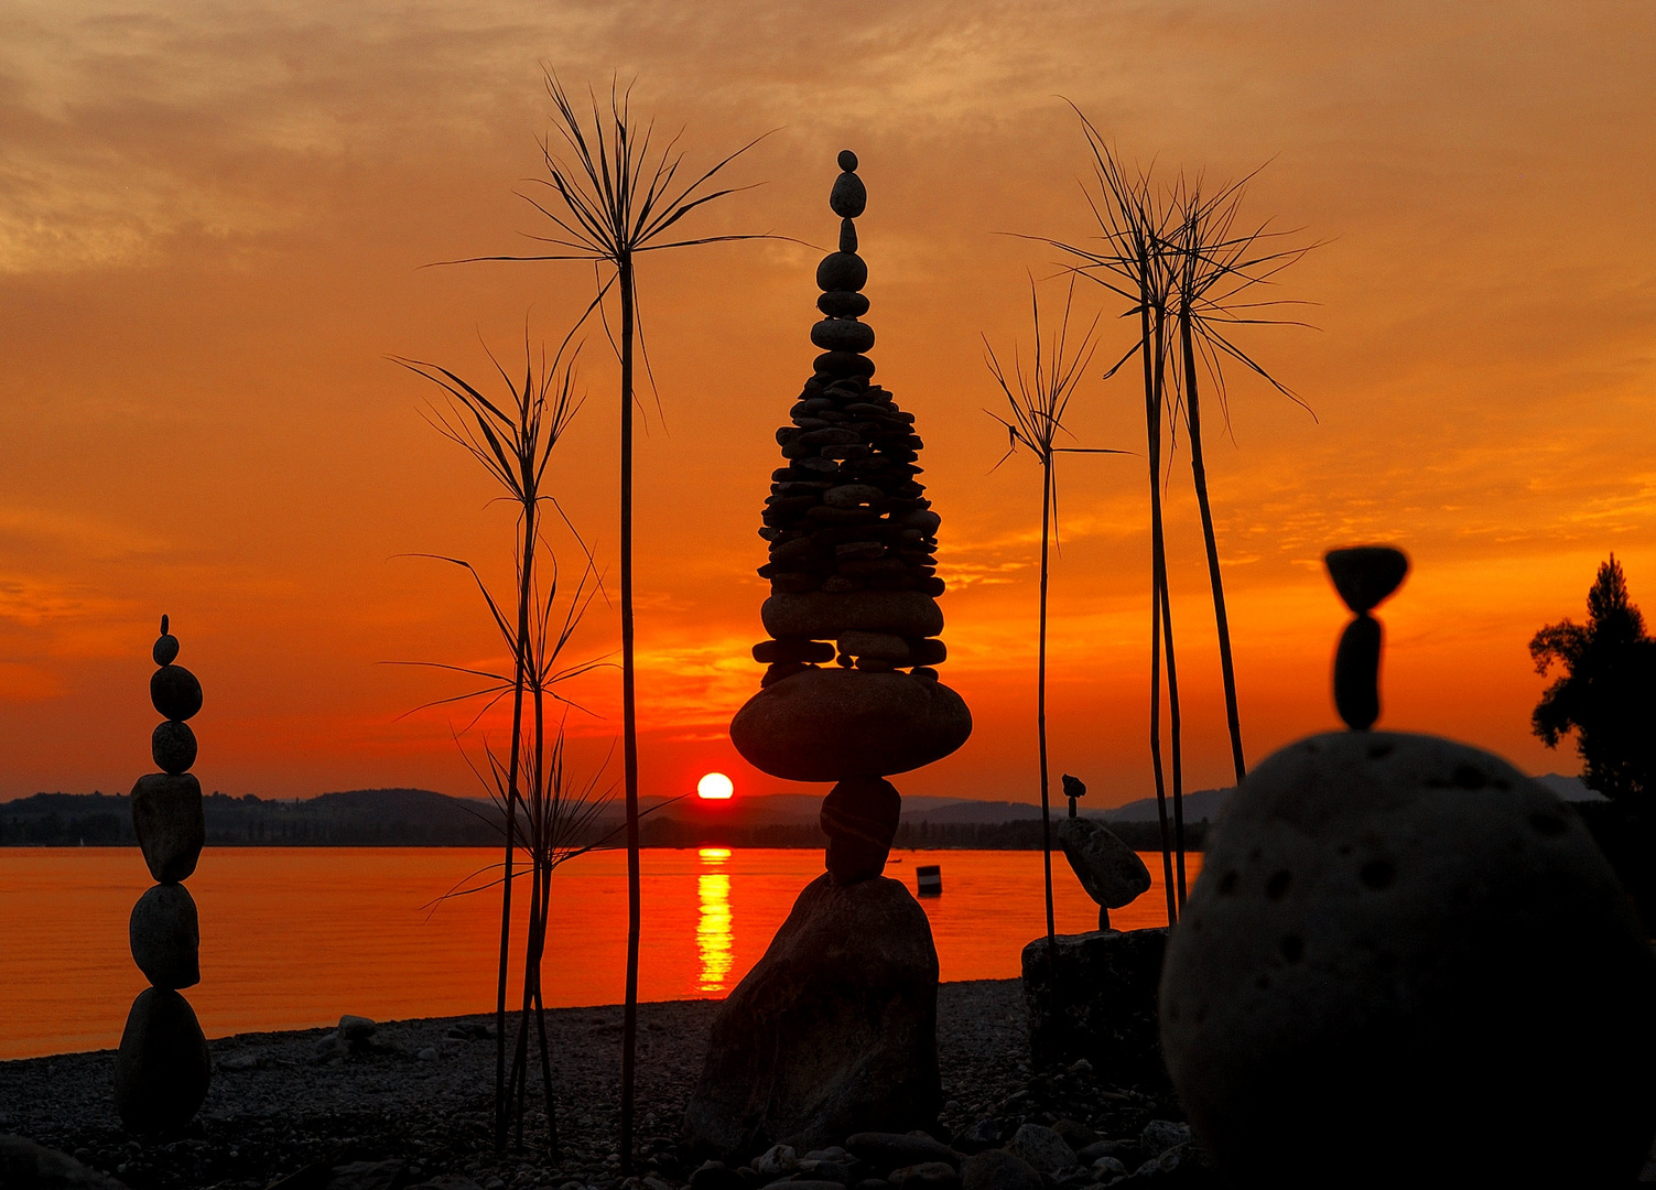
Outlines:
{"type": "Polygon", "coordinates": [[[916,478],[914,417],[871,382],[868,266],[851,222],[868,194],[854,154],[840,167],[840,252],[816,270],[823,354],[777,434],[787,465],[760,530],[770,639],[753,657],[768,669],[730,723],[755,768],[836,783],[821,809],[828,871],[714,1020],[684,1135],[717,1157],[906,1132],[934,1124],[942,1102],[937,950],[919,902],[881,876],[901,808],[884,778],[952,753],[972,717],[934,669],[939,520],[916,478]]]}

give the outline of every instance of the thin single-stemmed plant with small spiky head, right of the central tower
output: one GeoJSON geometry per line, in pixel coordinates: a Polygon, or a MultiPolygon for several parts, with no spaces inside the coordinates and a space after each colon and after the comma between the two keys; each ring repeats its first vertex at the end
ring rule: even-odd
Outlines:
{"type": "MultiPolygon", "coordinates": [[[[1035,361],[1033,366],[1025,371],[1022,353],[1017,346],[1012,349],[1012,369],[1002,367],[1000,359],[995,357],[995,349],[989,346],[989,339],[984,339],[984,351],[987,356],[989,372],[995,377],[995,384],[1007,397],[1007,405],[1012,410],[1012,419],[1007,420],[997,414],[989,414],[997,422],[1000,422],[1007,430],[1007,453],[1002,455],[1004,463],[1022,445],[1032,455],[1042,468],[1042,493],[1040,493],[1040,614],[1038,614],[1038,632],[1037,632],[1037,662],[1035,662],[1035,737],[1038,740],[1040,751],[1040,823],[1042,823],[1042,864],[1043,877],[1047,884],[1047,965],[1048,965],[1048,988],[1053,996],[1053,1020],[1057,1020],[1057,998],[1058,998],[1058,972],[1057,972],[1057,927],[1053,919],[1053,902],[1052,902],[1052,803],[1050,803],[1050,785],[1052,776],[1048,773],[1047,761],[1047,584],[1050,576],[1048,551],[1052,541],[1057,536],[1057,505],[1058,505],[1058,475],[1053,470],[1055,457],[1060,453],[1095,453],[1095,455],[1119,455],[1121,450],[1106,450],[1101,447],[1060,447],[1060,435],[1070,434],[1063,425],[1065,410],[1070,407],[1070,396],[1075,392],[1075,386],[1081,379],[1081,372],[1093,361],[1093,351],[1096,344],[1093,343],[1093,334],[1098,329],[1098,318],[1093,318],[1091,326],[1081,336],[1081,341],[1070,351],[1070,313],[1075,306],[1075,280],[1071,278],[1070,288],[1063,301],[1063,319],[1058,323],[1058,331],[1050,339],[1042,339],[1040,326],[1040,295],[1035,290],[1033,278],[1030,280],[1030,314],[1035,324],[1035,361]]],[[[985,410],[987,412],[987,410],[985,410]]],[[[1073,437],[1073,435],[1071,435],[1073,437]]],[[[1000,463],[995,463],[1000,467],[1000,463]]]]}

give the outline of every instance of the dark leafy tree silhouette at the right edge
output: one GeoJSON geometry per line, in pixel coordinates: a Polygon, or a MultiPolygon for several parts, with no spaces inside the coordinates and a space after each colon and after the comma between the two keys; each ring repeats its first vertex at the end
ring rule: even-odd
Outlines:
{"type": "Polygon", "coordinates": [[[1586,624],[1548,624],[1530,641],[1535,672],[1558,664],[1530,728],[1548,748],[1570,732],[1586,763],[1588,788],[1644,811],[1656,796],[1656,639],[1628,601],[1628,581],[1611,554],[1586,593],[1586,624]]]}

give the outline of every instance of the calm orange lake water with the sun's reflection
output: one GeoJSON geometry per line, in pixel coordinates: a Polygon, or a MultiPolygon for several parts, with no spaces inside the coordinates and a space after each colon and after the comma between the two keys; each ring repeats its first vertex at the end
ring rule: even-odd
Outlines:
{"type": "MultiPolygon", "coordinates": [[[[1096,928],[1098,909],[1061,854],[1053,859],[1058,932],[1096,928]]],[[[1119,928],[1166,925],[1161,856],[1143,859],[1156,887],[1111,914],[1119,928]]],[[[1192,882],[1201,859],[1187,857],[1192,882]]],[[[189,881],[202,981],[185,995],[209,1038],[331,1024],[341,1013],[489,1011],[500,892],[442,897],[497,861],[469,847],[209,847],[189,881]]],[[[722,998],[821,864],[820,851],[646,851],[639,998],[722,998]]],[[[1017,976],[1023,943],[1045,932],[1040,852],[899,851],[886,874],[912,892],[919,864],[942,866],[942,895],[921,897],[942,978],[1017,976]]],[[[119,1043],[146,986],[128,915],[149,884],[136,847],[0,847],[0,1059],[119,1043]]],[[[518,887],[527,897],[528,884],[518,887]]],[[[548,1006],[618,1003],[626,856],[561,867],[551,915],[548,1006]]]]}

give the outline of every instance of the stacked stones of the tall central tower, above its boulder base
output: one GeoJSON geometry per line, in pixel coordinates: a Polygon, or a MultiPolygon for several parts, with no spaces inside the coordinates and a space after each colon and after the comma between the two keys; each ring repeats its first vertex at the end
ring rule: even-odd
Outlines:
{"type": "Polygon", "coordinates": [[[828,872],[851,884],[879,876],[898,829],[901,798],[883,778],[952,753],[972,715],[937,680],[941,521],[919,482],[914,414],[873,381],[854,222],[868,190],[856,154],[841,152],[840,169],[828,197],[840,250],[816,266],[821,354],[777,430],[787,463],[770,477],[758,531],[770,543],[758,571],[770,639],[753,659],[768,669],[730,738],[772,776],[836,783],[821,811],[828,872]]]}

